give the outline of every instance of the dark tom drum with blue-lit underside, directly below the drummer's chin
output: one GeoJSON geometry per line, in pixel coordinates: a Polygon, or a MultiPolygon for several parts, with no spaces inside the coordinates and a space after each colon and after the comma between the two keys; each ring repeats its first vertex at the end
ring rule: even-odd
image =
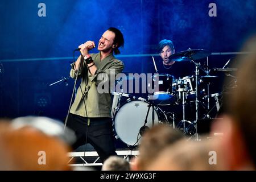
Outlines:
{"type": "MultiPolygon", "coordinates": [[[[176,97],[173,90],[173,82],[175,77],[169,74],[156,74],[152,76],[155,92],[148,95],[148,100],[156,105],[174,104],[176,97]]],[[[151,86],[148,84],[148,86],[151,86]]]]}

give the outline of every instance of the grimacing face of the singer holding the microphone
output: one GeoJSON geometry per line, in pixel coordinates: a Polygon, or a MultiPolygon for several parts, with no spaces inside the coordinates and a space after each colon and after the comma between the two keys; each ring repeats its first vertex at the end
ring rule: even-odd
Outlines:
{"type": "Polygon", "coordinates": [[[112,51],[115,34],[112,31],[105,31],[98,42],[98,51],[108,52],[112,51]]]}

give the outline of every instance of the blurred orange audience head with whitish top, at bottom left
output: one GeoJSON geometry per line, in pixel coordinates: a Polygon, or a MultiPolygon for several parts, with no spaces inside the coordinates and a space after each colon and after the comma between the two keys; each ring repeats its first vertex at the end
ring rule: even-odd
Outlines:
{"type": "Polygon", "coordinates": [[[68,142],[75,134],[69,129],[64,132],[62,123],[46,117],[21,117],[4,127],[0,131],[0,154],[6,156],[6,163],[1,164],[7,165],[6,170],[70,169],[68,142]]]}

